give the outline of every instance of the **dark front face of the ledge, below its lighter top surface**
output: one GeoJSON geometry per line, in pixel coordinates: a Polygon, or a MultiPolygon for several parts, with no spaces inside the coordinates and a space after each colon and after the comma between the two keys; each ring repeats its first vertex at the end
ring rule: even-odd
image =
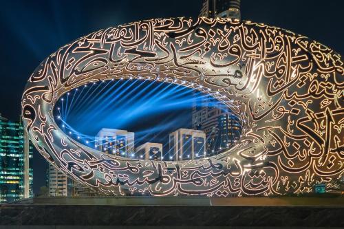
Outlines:
{"type": "Polygon", "coordinates": [[[338,206],[3,205],[0,225],[344,228],[338,206]]]}

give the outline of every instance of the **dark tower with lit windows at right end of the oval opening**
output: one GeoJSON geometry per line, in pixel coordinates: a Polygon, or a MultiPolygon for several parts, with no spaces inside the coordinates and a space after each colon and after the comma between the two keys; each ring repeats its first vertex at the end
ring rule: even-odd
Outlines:
{"type": "Polygon", "coordinates": [[[241,135],[239,118],[229,109],[215,107],[214,99],[204,99],[201,105],[194,105],[192,128],[206,133],[206,155],[215,155],[228,149],[241,135]]]}

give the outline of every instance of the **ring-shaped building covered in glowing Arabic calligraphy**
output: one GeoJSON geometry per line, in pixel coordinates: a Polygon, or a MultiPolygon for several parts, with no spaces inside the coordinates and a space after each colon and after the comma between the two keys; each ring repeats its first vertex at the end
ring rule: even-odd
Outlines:
{"type": "Polygon", "coordinates": [[[280,195],[343,176],[343,96],[341,56],[305,36],[250,21],[152,19],[93,32],[51,54],[28,81],[22,115],[47,161],[109,195],[280,195]],[[120,78],[211,94],[240,118],[242,136],[224,153],[177,163],[102,153],[58,128],[58,98],[120,78]]]}

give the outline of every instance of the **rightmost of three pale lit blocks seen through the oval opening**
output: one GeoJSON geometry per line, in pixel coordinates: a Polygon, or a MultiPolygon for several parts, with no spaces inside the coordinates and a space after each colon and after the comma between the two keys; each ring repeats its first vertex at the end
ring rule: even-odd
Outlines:
{"type": "Polygon", "coordinates": [[[204,157],[206,134],[195,129],[178,129],[169,134],[169,159],[191,160],[204,157]]]}

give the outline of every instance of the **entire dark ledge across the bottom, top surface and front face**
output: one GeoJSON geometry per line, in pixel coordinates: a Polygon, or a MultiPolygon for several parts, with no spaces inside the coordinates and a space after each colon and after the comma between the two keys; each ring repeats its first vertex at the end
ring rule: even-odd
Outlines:
{"type": "Polygon", "coordinates": [[[343,206],[343,196],[43,197],[0,205],[0,229],[344,228],[343,206]]]}

